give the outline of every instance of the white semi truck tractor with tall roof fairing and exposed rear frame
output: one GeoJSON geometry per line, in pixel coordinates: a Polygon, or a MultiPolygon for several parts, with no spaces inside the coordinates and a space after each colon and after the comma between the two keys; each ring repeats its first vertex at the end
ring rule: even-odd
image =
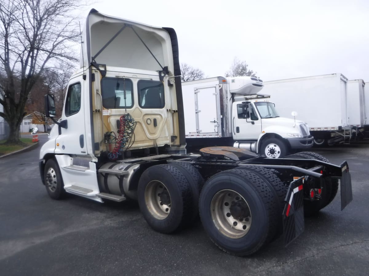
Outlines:
{"type": "Polygon", "coordinates": [[[51,198],[136,199],[161,233],[191,226],[200,213],[211,240],[236,255],[250,255],[281,233],[292,242],[304,230],[304,213],[327,206],[339,183],[342,208],[352,200],[347,162],[334,165],[315,153],[268,159],[218,146],[186,154],[172,28],[91,10],[82,40],[62,114],[45,95],[56,125],[39,168],[51,198]]]}

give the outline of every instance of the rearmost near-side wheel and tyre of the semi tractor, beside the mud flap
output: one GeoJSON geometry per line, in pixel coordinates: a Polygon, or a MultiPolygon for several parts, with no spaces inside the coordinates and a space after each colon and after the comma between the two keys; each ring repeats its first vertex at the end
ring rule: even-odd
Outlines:
{"type": "Polygon", "coordinates": [[[280,212],[269,185],[252,171],[232,169],[206,181],[200,194],[201,222],[222,250],[250,255],[275,236],[280,212]]]}

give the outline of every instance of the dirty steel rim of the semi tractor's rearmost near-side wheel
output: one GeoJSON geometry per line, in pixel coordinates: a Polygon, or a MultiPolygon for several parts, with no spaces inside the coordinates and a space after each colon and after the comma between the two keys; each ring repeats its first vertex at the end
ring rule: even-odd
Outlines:
{"type": "Polygon", "coordinates": [[[223,235],[237,239],[245,236],[250,230],[250,207],[238,192],[233,190],[221,190],[217,192],[211,201],[210,210],[215,227],[223,235]],[[237,207],[234,208],[238,206],[237,204],[241,205],[239,209],[237,207]],[[241,210],[241,213],[237,212],[239,210],[241,210]],[[247,213],[248,215],[246,215],[247,213]]]}

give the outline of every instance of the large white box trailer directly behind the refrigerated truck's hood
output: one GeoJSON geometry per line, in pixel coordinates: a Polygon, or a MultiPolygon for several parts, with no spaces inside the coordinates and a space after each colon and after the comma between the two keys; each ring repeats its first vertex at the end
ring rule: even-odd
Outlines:
{"type": "Polygon", "coordinates": [[[353,127],[347,113],[347,81],[342,74],[281,79],[264,82],[281,116],[296,110],[307,122],[317,145],[349,142],[353,127]]]}

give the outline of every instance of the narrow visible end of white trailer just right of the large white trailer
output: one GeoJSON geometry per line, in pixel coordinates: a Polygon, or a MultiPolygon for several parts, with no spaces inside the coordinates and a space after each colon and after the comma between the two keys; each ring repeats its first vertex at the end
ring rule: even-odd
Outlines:
{"type": "Polygon", "coordinates": [[[363,138],[366,110],[365,82],[362,79],[347,82],[347,115],[349,125],[355,128],[356,137],[363,138]]]}

